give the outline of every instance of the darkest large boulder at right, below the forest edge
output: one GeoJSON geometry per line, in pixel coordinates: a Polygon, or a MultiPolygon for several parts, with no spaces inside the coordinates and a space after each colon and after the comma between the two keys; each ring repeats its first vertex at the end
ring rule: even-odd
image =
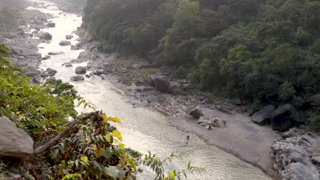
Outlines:
{"type": "Polygon", "coordinates": [[[302,120],[291,104],[279,106],[271,115],[271,125],[276,131],[284,132],[299,123],[302,120]]]}

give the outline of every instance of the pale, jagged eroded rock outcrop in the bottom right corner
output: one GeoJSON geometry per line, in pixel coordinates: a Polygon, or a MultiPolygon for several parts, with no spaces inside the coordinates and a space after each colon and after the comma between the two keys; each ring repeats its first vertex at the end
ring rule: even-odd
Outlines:
{"type": "Polygon", "coordinates": [[[271,146],[276,160],[274,168],[284,180],[318,180],[317,166],[312,163],[310,152],[316,146],[317,136],[311,132],[291,129],[281,134],[271,146]]]}

